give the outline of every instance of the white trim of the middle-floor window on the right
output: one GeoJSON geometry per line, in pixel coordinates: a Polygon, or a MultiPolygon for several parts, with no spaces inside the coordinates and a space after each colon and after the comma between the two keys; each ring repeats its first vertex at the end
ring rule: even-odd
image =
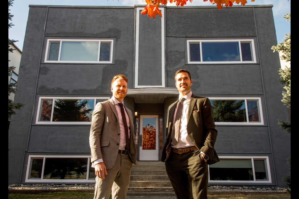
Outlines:
{"type": "Polygon", "coordinates": [[[226,100],[226,99],[245,100],[247,122],[215,122],[215,125],[264,125],[262,101],[261,101],[260,97],[208,97],[208,98],[210,100],[226,100]],[[260,116],[260,120],[261,120],[260,122],[249,122],[248,112],[247,112],[247,99],[248,100],[258,100],[259,116],[260,116]]]}

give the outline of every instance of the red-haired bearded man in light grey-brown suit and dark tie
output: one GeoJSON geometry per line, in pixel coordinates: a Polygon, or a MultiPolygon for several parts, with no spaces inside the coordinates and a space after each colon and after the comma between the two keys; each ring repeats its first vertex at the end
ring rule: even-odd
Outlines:
{"type": "Polygon", "coordinates": [[[132,165],[136,164],[132,112],[123,105],[128,79],[116,75],[111,82],[111,99],[97,103],[92,115],[89,145],[95,168],[94,199],[126,198],[132,165]]]}

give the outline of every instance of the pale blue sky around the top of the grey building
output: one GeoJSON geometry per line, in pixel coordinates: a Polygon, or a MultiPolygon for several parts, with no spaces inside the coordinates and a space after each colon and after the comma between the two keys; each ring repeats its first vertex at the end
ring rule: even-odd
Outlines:
{"type": "MultiPolygon", "coordinates": [[[[12,15],[12,28],[8,29],[8,38],[18,40],[15,44],[23,49],[29,5],[68,5],[68,6],[134,6],[146,5],[144,0],[15,0],[10,12],[12,15]]],[[[240,5],[240,4],[239,4],[240,5]]],[[[282,42],[284,34],[291,33],[291,25],[282,18],[284,14],[291,13],[291,0],[247,0],[246,5],[273,5],[273,17],[278,42],[282,42]]],[[[175,6],[174,3],[167,6],[175,6]]],[[[210,1],[193,0],[187,2],[186,6],[213,6],[210,1]]],[[[216,7],[216,4],[214,4],[216,7]]],[[[234,6],[234,5],[233,5],[234,6]]]]}

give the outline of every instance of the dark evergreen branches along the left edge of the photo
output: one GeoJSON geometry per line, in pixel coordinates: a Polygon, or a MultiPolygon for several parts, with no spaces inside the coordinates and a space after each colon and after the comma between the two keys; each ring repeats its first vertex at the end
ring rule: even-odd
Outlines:
{"type": "MultiPolygon", "coordinates": [[[[12,6],[13,1],[14,0],[8,0],[8,28],[11,28],[13,26],[13,24],[9,22],[12,21],[12,17],[13,17],[13,15],[9,12],[10,11],[9,7],[12,6]]],[[[12,49],[10,45],[12,45],[14,42],[16,41],[8,38],[8,53],[13,53],[14,49],[12,49]]],[[[16,67],[13,66],[8,67],[8,76],[12,75],[12,72],[15,68],[16,67]]],[[[10,96],[11,93],[15,93],[16,90],[17,90],[17,82],[8,84],[8,96],[10,96]]],[[[11,99],[8,99],[8,119],[10,118],[11,115],[16,114],[14,109],[21,109],[22,106],[24,106],[24,104],[14,103],[11,99]]]]}

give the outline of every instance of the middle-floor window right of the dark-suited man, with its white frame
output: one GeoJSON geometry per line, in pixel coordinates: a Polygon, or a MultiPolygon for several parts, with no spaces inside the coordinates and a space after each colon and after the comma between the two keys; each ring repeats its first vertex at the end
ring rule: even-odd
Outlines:
{"type": "Polygon", "coordinates": [[[262,103],[259,97],[209,98],[216,125],[263,125],[262,103]]]}

